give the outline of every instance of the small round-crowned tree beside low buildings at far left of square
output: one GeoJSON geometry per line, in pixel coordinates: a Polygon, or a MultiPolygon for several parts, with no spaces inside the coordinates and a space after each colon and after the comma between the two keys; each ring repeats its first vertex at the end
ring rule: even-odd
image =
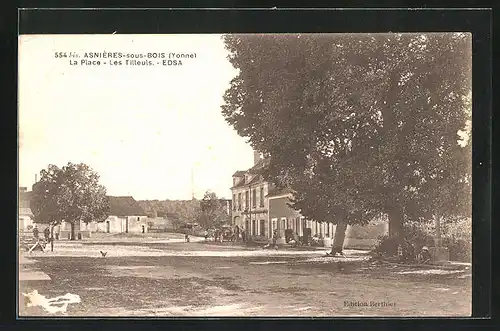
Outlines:
{"type": "Polygon", "coordinates": [[[52,226],[69,222],[71,238],[75,239],[76,222],[102,222],[107,218],[106,188],[99,184],[99,175],[88,165],[68,163],[62,168],[49,165],[40,175],[40,181],[33,185],[31,201],[36,222],[52,226]]]}

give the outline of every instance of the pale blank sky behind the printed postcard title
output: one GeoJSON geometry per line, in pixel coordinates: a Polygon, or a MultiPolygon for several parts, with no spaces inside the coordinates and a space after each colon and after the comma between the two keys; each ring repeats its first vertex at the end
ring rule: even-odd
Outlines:
{"type": "MultiPolygon", "coordinates": [[[[109,195],[230,197],[252,166],[246,140],[224,121],[237,71],[220,35],[31,35],[19,38],[19,186],[49,164],[86,163],[109,195]],[[75,53],[80,58],[56,57],[75,53]],[[81,65],[85,52],[189,53],[182,66],[81,65]],[[74,60],[78,65],[71,65],[74,60]],[[192,181],[193,174],[193,181],[192,181]]],[[[90,59],[96,60],[96,59],[90,59]]],[[[112,59],[111,59],[112,60],[112,59]]],[[[106,61],[106,64],[104,64],[106,61]]]]}

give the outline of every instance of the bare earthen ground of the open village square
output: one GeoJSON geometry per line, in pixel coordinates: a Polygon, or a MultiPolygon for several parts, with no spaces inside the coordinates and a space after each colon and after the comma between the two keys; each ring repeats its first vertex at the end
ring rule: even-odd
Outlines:
{"type": "MultiPolygon", "coordinates": [[[[78,294],[81,303],[70,305],[68,316],[470,316],[470,270],[323,253],[144,240],[61,242],[54,253],[30,257],[51,280],[23,281],[20,290],[78,294]]],[[[20,307],[21,316],[48,315],[23,302],[20,307]]]]}

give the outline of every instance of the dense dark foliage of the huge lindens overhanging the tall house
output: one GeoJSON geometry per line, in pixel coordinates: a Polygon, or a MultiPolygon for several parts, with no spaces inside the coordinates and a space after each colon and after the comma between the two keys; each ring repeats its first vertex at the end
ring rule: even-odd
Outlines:
{"type": "Polygon", "coordinates": [[[407,220],[470,215],[469,34],[224,42],[239,73],[223,115],[271,155],[268,178],[297,192],[304,216],[345,225],[384,213],[402,240],[407,220]]]}

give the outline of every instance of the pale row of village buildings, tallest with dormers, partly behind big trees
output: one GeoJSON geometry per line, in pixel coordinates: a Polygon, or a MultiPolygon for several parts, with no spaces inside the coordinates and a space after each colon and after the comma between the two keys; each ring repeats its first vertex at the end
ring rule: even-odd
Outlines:
{"type": "MultiPolygon", "coordinates": [[[[232,214],[233,226],[244,229],[249,236],[272,238],[278,234],[278,243],[285,242],[286,230],[302,237],[325,238],[329,245],[336,226],[331,223],[309,220],[288,204],[293,199],[290,189],[277,189],[273,183],[264,180],[261,172],[269,162],[254,152],[254,165],[246,171],[233,174],[232,214]]],[[[346,248],[368,248],[377,242],[377,237],[387,233],[387,222],[374,221],[367,226],[348,226],[346,248]]]]}

